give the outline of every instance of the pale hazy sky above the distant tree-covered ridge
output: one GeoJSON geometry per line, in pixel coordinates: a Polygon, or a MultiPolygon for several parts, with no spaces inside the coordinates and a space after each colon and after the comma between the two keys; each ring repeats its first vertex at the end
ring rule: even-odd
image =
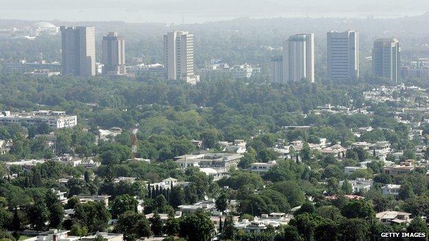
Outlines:
{"type": "Polygon", "coordinates": [[[249,16],[397,17],[429,0],[0,0],[1,19],[201,23],[249,16]]]}

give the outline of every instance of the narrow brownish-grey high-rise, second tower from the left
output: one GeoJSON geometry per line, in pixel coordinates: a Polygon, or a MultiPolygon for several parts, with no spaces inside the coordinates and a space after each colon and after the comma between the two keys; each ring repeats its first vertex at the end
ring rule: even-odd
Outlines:
{"type": "Polygon", "coordinates": [[[119,76],[125,74],[125,41],[116,32],[103,36],[102,64],[103,75],[119,76]]]}

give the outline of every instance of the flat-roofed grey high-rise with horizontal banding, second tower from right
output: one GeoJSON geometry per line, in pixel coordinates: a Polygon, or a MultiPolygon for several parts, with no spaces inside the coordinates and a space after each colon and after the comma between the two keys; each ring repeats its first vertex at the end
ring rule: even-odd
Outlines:
{"type": "Polygon", "coordinates": [[[333,80],[359,77],[358,32],[327,33],[328,76],[333,80]]]}

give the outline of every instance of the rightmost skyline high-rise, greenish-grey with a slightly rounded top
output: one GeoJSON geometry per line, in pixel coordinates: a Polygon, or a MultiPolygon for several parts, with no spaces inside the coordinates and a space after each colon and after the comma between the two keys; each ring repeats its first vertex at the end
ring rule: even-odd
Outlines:
{"type": "Polygon", "coordinates": [[[401,50],[396,38],[380,38],[374,41],[373,73],[375,76],[399,80],[401,67],[401,50]]]}

